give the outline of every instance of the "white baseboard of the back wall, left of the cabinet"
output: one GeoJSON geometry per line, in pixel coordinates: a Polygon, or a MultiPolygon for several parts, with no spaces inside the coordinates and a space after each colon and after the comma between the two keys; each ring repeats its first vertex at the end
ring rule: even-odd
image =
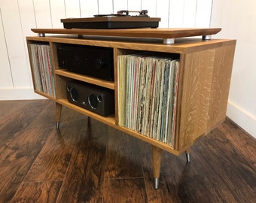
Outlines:
{"type": "Polygon", "coordinates": [[[34,89],[0,89],[0,100],[45,99],[34,92],[34,89]]]}

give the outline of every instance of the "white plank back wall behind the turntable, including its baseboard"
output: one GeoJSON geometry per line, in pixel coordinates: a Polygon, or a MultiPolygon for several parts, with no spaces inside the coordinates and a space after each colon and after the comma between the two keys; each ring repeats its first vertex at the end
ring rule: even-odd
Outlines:
{"type": "Polygon", "coordinates": [[[60,19],[147,9],[160,27],[209,27],[212,0],[0,0],[0,100],[41,98],[32,90],[26,48],[31,28],[62,28],[60,19]]]}

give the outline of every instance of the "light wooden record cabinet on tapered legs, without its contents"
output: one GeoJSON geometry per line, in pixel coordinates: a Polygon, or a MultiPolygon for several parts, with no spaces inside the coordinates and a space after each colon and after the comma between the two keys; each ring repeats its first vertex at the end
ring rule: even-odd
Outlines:
{"type": "MultiPolygon", "coordinates": [[[[29,59],[32,67],[32,78],[35,87],[35,92],[50,98],[56,102],[56,123],[59,127],[62,105],[72,108],[75,111],[85,114],[88,117],[99,120],[108,126],[126,132],[128,135],[139,138],[142,141],[152,145],[153,152],[153,168],[154,178],[157,181],[160,176],[160,160],[162,150],[169,153],[179,155],[181,153],[190,152],[190,147],[202,135],[206,135],[219,123],[223,122],[226,117],[227,98],[230,87],[230,77],[233,66],[233,56],[236,46],[235,40],[210,39],[202,40],[201,38],[177,38],[186,35],[174,35],[176,30],[165,29],[165,35],[158,35],[158,29],[145,29],[145,35],[136,34],[138,29],[129,30],[126,35],[123,30],[117,31],[91,31],[81,32],[81,30],[65,30],[62,29],[37,29],[34,32],[38,33],[59,33],[69,35],[50,35],[43,37],[27,37],[26,41],[29,47],[29,59]],[[148,35],[150,30],[154,30],[152,35],[148,35]],[[84,34],[85,33],[85,34],[84,34]],[[88,34],[89,33],[89,34],[88,34]],[[103,34],[102,34],[103,33],[103,34]],[[110,34],[109,34],[110,33],[110,34]],[[135,33],[135,34],[134,34],[135,33]],[[169,35],[168,35],[169,33],[169,35]],[[71,35],[72,34],[72,35],[71,35]],[[118,35],[119,34],[119,35],[118,35]],[[88,36],[90,35],[90,36],[88,36]],[[104,35],[99,37],[99,35],[104,35]],[[106,37],[107,36],[107,37],[106,37]],[[117,38],[113,36],[124,36],[117,38]],[[142,37],[146,38],[126,38],[142,37]],[[174,44],[163,44],[166,38],[175,38],[174,44]],[[157,39],[156,39],[157,38],[157,39]],[[163,38],[159,41],[158,38],[163,38]],[[47,44],[50,47],[50,62],[53,70],[53,88],[54,96],[36,89],[38,83],[37,72],[35,71],[35,62],[33,62],[33,54],[30,49],[30,44],[47,44]],[[114,53],[114,81],[100,80],[94,77],[88,77],[83,74],[77,74],[59,68],[56,47],[58,44],[80,44],[96,47],[111,47],[114,53]],[[175,144],[170,147],[161,141],[157,141],[138,132],[118,126],[118,103],[117,103],[117,57],[123,54],[139,53],[142,51],[160,52],[160,53],[175,53],[179,56],[180,69],[178,79],[178,95],[177,95],[177,110],[175,121],[175,144]],[[70,80],[81,80],[87,83],[93,83],[97,86],[104,86],[108,89],[114,89],[115,92],[115,114],[108,117],[102,117],[99,114],[94,114],[84,108],[72,105],[67,99],[66,83],[70,80]]],[[[195,32],[195,29],[182,30],[182,33],[187,33],[187,36],[202,35],[195,32]],[[193,33],[192,33],[193,32],[193,33]],[[192,33],[192,34],[191,34],[192,33]]],[[[206,32],[207,31],[207,32],[206,32]]],[[[215,34],[208,32],[206,35],[215,34]]],[[[218,30],[219,31],[219,30],[218,30]]],[[[153,31],[152,31],[153,32],[153,31]]],[[[204,34],[203,34],[204,35],[204,34]]],[[[46,73],[47,74],[47,73],[46,73]]]]}

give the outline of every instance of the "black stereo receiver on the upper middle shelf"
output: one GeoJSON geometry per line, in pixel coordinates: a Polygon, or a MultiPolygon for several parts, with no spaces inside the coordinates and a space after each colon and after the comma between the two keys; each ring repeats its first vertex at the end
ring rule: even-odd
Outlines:
{"type": "Polygon", "coordinates": [[[103,80],[114,80],[112,48],[59,44],[57,56],[60,68],[103,80]]]}

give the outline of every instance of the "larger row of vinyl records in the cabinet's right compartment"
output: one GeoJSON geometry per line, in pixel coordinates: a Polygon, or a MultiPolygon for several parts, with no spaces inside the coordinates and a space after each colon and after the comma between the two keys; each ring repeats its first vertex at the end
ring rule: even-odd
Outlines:
{"type": "Polygon", "coordinates": [[[174,146],[177,57],[118,56],[118,124],[174,146]]]}

